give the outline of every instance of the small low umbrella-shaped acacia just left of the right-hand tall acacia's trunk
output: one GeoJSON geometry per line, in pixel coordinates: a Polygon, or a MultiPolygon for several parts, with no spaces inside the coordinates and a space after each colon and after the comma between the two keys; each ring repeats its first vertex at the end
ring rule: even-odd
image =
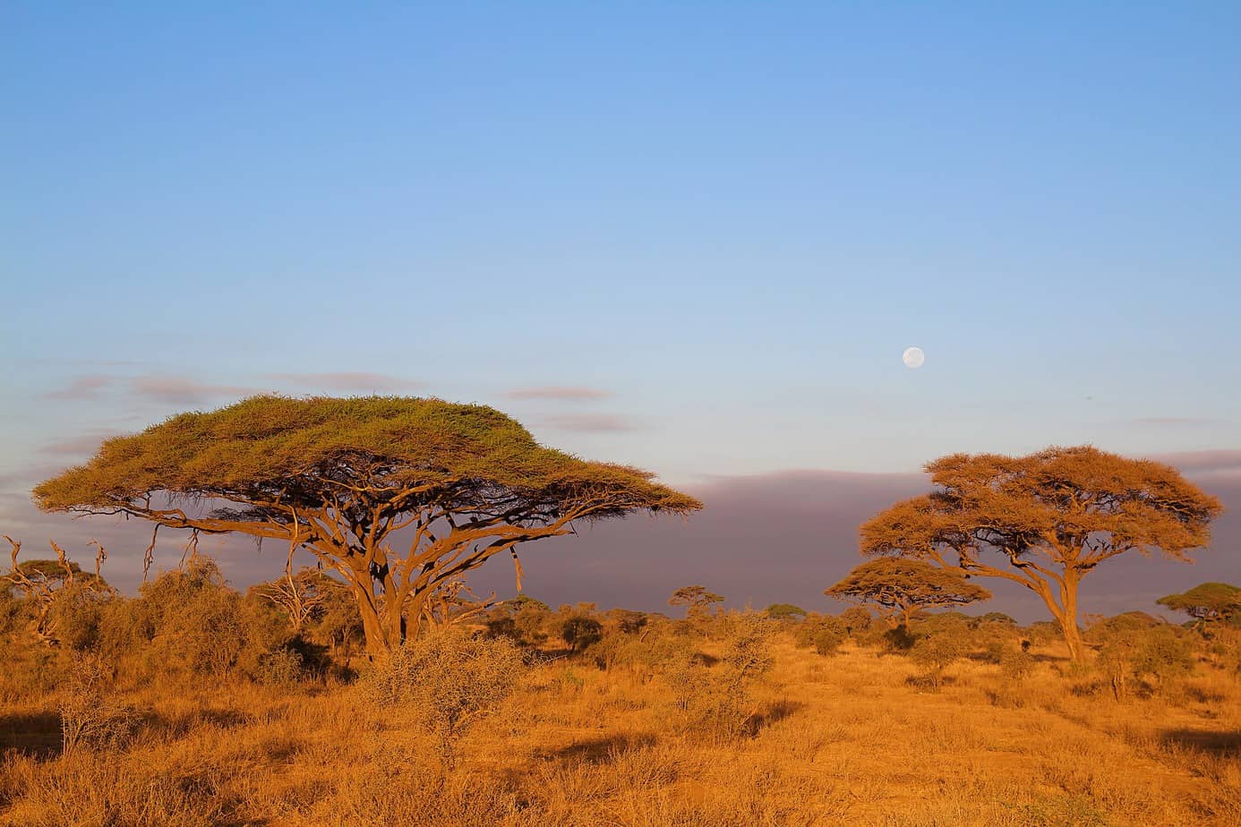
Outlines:
{"type": "Polygon", "coordinates": [[[906,629],[910,616],[920,609],[964,606],[992,599],[990,591],[970,583],[962,572],[898,557],[862,563],[824,594],[872,605],[894,626],[900,616],[906,629]]]}

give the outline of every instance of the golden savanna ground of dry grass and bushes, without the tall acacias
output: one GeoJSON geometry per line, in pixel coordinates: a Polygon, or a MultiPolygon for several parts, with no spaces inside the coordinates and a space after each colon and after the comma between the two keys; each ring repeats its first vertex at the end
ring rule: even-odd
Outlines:
{"type": "Polygon", "coordinates": [[[724,613],[688,588],[674,620],[457,589],[372,663],[313,569],[247,594],[201,557],[134,599],[84,580],[46,580],[40,635],[37,595],[4,593],[0,823],[1241,820],[1231,608],[1092,619],[1073,663],[1057,625],[998,613],[724,613]]]}

